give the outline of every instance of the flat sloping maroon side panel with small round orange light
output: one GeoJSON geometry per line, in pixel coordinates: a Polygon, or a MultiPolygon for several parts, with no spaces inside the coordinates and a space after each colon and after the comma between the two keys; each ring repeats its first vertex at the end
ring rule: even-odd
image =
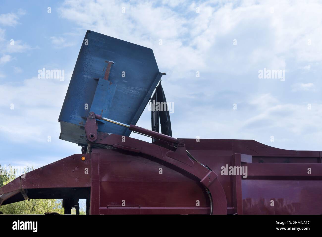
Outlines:
{"type": "Polygon", "coordinates": [[[74,154],[21,176],[23,189],[62,187],[90,187],[90,154],[74,154]]]}

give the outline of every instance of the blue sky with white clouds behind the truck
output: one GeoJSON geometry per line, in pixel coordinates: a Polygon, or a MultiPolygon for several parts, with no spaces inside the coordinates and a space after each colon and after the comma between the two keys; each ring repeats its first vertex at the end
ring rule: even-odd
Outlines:
{"type": "MultiPolygon", "coordinates": [[[[321,12],[318,1],[2,0],[0,164],[81,153],[59,139],[58,117],[87,30],[153,49],[174,137],[322,150],[321,12]],[[43,68],[65,80],[39,79],[43,68]]],[[[147,108],[137,125],[151,129],[147,108]]]]}

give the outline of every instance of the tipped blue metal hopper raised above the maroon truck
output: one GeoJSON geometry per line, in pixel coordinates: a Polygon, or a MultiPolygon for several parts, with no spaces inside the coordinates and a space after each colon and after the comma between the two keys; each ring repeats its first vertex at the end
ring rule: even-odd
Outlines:
{"type": "MultiPolygon", "coordinates": [[[[85,145],[84,125],[90,111],[135,125],[161,76],[152,49],[87,31],[59,116],[60,138],[85,145]],[[106,80],[109,61],[114,63],[106,80]]],[[[131,133],[103,120],[98,131],[131,133]]]]}

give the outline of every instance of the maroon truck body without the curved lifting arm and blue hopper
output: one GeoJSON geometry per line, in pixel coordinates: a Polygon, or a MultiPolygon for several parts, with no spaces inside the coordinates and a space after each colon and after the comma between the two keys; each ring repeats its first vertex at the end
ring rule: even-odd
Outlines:
{"type": "MultiPolygon", "coordinates": [[[[254,140],[183,140],[186,149],[218,175],[224,194],[216,198],[224,198],[224,213],[322,214],[320,151],[283,150],[254,140]],[[227,165],[247,166],[248,176],[221,175],[227,165]]],[[[0,188],[1,205],[27,198],[86,198],[90,214],[211,212],[200,180],[153,156],[122,148],[75,154],[0,188]]]]}

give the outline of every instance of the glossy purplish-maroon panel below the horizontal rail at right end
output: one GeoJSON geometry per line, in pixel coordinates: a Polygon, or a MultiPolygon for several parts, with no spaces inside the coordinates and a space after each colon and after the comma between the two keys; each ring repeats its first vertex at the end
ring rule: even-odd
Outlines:
{"type": "Polygon", "coordinates": [[[243,179],[244,214],[320,215],[322,214],[321,183],[320,180],[243,179]]]}

